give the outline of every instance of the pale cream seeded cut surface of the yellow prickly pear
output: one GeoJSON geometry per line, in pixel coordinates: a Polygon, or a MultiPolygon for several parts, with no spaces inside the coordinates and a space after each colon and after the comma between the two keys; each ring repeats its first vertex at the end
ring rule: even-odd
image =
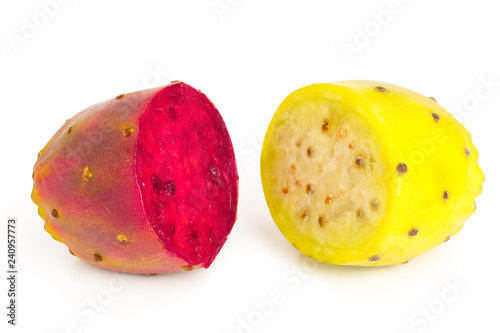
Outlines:
{"type": "Polygon", "coordinates": [[[267,179],[292,228],[332,251],[372,239],[388,184],[369,124],[349,106],[321,98],[301,99],[275,122],[267,179]]]}

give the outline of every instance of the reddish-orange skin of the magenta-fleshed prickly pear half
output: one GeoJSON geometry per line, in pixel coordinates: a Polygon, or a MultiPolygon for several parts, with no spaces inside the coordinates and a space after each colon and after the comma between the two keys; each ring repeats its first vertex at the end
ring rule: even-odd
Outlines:
{"type": "MultiPolygon", "coordinates": [[[[151,227],[139,190],[136,147],[139,119],[161,94],[198,94],[212,108],[229,160],[230,215],[236,220],[238,175],[231,140],[213,104],[185,83],[122,94],[93,105],[66,123],[40,151],[34,166],[32,200],[45,230],[70,252],[104,268],[131,273],[164,273],[207,267],[166,250],[151,227]]],[[[203,149],[199,147],[198,149],[203,149]]],[[[226,235],[227,236],[227,235],[226,235]]],[[[225,239],[218,244],[218,253],[225,239]]],[[[211,259],[213,260],[213,258],[211,259]]]]}

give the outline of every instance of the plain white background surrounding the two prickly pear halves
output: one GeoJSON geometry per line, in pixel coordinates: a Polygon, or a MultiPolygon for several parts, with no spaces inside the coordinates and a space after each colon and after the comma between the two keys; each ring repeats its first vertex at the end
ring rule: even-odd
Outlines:
{"type": "Polygon", "coordinates": [[[54,0],[0,5],[0,266],[5,223],[16,217],[20,272],[16,327],[6,324],[1,279],[8,332],[500,331],[495,1],[62,2],[45,9],[50,16],[40,3],[54,0]],[[356,48],[350,56],[348,44],[356,48]],[[295,89],[343,79],[435,97],[480,151],[486,182],[477,213],[450,242],[407,265],[309,260],[268,212],[259,154],[274,111],[295,89]],[[229,240],[208,270],[154,277],[120,276],[69,255],[44,232],[30,199],[38,151],[85,107],[171,80],[207,94],[232,136],[240,205],[229,240]],[[279,304],[270,305],[272,295],[281,295],[279,304]]]}

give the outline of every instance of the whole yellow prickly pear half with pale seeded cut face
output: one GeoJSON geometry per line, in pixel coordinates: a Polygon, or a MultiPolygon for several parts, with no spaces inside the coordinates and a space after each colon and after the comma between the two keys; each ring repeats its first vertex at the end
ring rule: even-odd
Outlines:
{"type": "Polygon", "coordinates": [[[475,209],[484,174],[467,130],[434,98],[375,81],[290,94],[267,130],[271,215],[319,261],[405,263],[446,242],[475,209]]]}

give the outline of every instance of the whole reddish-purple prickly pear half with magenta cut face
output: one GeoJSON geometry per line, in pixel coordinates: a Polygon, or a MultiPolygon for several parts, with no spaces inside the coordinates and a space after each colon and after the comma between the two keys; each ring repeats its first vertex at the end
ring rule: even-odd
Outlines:
{"type": "Polygon", "coordinates": [[[113,270],[208,268],[236,220],[226,126],[204,94],[181,82],[122,94],[67,120],[33,177],[45,230],[113,270]]]}

